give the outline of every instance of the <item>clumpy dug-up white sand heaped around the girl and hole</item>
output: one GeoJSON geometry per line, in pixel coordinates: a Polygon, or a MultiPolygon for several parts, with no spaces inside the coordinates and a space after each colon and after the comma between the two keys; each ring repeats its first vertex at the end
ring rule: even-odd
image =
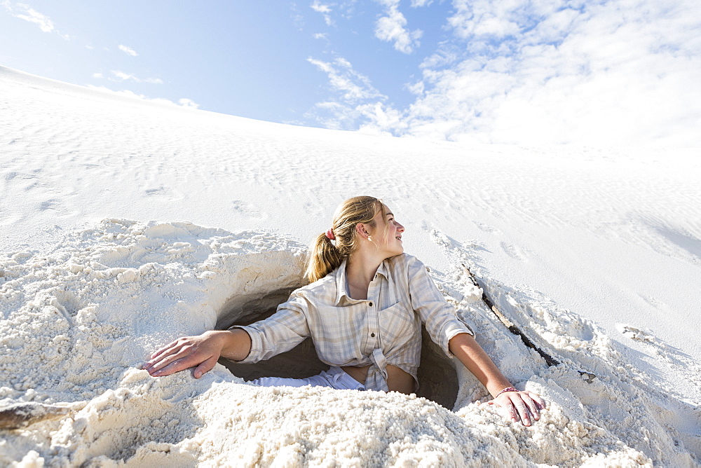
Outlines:
{"type": "MultiPolygon", "coordinates": [[[[65,408],[0,429],[7,466],[693,466],[698,402],[665,394],[592,322],[480,275],[547,366],[461,272],[470,246],[435,233],[456,269],[431,270],[506,376],[549,408],[532,427],[484,406],[456,366],[453,408],[403,394],[263,388],[224,366],[151,378],[140,364],[178,336],[268,312],[302,284],[306,248],[266,232],[108,219],[48,253],[0,258],[0,408],[65,408]],[[452,411],[451,411],[452,410],[452,411]]],[[[455,364],[455,363],[454,363],[455,364]]]]}

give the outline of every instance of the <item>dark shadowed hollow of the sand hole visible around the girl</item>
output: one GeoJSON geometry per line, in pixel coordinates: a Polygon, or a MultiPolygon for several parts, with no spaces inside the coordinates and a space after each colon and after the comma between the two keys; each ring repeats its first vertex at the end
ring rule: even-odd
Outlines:
{"type": "MultiPolygon", "coordinates": [[[[275,313],[278,304],[287,301],[292,289],[273,291],[264,297],[231,299],[219,315],[218,329],[231,325],[247,325],[275,313]]],[[[311,338],[292,350],[283,352],[256,364],[237,364],[219,359],[233,375],[244,380],[259,377],[307,378],[329,369],[319,360],[311,338]]],[[[451,360],[433,343],[426,329],[421,327],[421,366],[418,369],[418,397],[435,401],[444,408],[453,408],[458,395],[458,377],[451,360]]]]}

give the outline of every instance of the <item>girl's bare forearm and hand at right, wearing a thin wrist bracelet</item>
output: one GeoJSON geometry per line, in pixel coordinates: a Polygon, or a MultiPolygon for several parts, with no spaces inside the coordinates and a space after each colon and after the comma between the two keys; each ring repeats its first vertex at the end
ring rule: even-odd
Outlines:
{"type": "Polygon", "coordinates": [[[448,347],[468,371],[472,372],[486,387],[489,394],[495,397],[490,404],[503,408],[513,422],[521,420],[526,426],[531,425],[531,415],[535,420],[540,419],[539,411],[545,408],[545,401],[533,392],[501,392],[513,385],[499,371],[472,335],[459,333],[449,340],[448,347]]]}

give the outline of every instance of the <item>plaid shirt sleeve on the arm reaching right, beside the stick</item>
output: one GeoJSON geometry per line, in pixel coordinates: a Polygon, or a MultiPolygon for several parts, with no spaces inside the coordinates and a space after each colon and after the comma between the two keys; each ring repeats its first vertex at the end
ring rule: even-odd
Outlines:
{"type": "Polygon", "coordinates": [[[448,348],[451,338],[460,333],[468,333],[472,336],[475,336],[475,333],[459,319],[455,308],[445,300],[428,275],[423,262],[411,257],[408,273],[411,307],[421,317],[421,322],[426,325],[426,331],[431,339],[440,345],[448,357],[453,357],[448,348]]]}

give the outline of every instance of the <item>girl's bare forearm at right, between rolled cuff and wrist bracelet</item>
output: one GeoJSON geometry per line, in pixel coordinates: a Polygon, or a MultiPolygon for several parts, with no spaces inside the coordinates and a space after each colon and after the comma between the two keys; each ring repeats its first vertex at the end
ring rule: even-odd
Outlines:
{"type": "Polygon", "coordinates": [[[475,337],[468,333],[459,333],[448,342],[448,348],[455,357],[486,387],[492,397],[511,383],[496,364],[490,359],[475,337]]]}

